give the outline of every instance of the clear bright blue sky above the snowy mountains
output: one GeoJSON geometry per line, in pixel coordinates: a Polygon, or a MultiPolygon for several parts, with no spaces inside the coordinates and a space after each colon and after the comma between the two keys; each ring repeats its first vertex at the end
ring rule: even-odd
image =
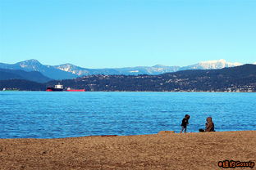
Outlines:
{"type": "Polygon", "coordinates": [[[256,61],[255,0],[0,0],[0,62],[256,61]]]}

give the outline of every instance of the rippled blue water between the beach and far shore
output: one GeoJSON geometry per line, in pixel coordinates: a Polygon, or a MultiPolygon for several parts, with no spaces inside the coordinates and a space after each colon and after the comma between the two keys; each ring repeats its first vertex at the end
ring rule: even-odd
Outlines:
{"type": "Polygon", "coordinates": [[[0,92],[0,138],[187,132],[213,117],[216,131],[256,130],[256,93],[0,92]]]}

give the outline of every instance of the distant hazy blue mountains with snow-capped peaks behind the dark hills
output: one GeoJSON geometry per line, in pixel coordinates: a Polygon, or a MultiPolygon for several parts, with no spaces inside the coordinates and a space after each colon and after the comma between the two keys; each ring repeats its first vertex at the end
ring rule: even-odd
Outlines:
{"type": "Polygon", "coordinates": [[[87,69],[76,65],[63,64],[63,65],[42,65],[38,60],[25,60],[16,64],[0,63],[0,69],[21,69],[24,71],[38,71],[44,76],[52,79],[70,79],[77,78],[85,75],[104,74],[104,75],[139,75],[139,74],[165,74],[176,72],[186,69],[222,69],[226,67],[234,67],[242,65],[240,63],[231,63],[226,60],[208,60],[202,61],[194,65],[188,66],[137,66],[113,69],[87,69]]]}

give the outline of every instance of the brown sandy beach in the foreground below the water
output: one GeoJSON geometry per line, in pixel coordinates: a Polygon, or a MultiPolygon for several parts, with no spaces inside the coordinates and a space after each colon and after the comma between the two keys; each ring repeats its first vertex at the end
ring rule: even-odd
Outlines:
{"type": "Polygon", "coordinates": [[[1,169],[222,169],[256,162],[256,131],[0,139],[0,159],[1,169]]]}

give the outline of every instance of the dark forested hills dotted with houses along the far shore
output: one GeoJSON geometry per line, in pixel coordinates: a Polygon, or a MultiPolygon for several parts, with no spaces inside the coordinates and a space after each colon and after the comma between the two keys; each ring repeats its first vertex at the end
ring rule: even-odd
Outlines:
{"type": "Polygon", "coordinates": [[[158,75],[88,75],[35,83],[25,79],[0,80],[0,89],[45,91],[61,83],[86,91],[129,92],[256,92],[256,65],[223,69],[190,69],[158,75]]]}

